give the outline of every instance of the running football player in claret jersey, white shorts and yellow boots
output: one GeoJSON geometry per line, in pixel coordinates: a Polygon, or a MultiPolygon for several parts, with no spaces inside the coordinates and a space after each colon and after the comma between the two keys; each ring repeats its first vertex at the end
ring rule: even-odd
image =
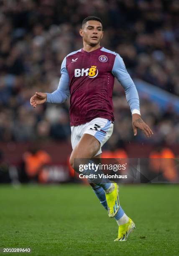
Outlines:
{"type": "MultiPolygon", "coordinates": [[[[115,77],[125,90],[132,113],[134,136],[137,128],[146,137],[153,134],[141,119],[138,92],[123,59],[119,54],[100,46],[103,37],[102,20],[94,16],[85,18],[79,34],[83,39],[83,48],[64,58],[57,90],[52,93],[36,92],[30,100],[33,108],[36,108],[44,102],[62,103],[70,95],[73,151],[69,161],[72,168],[74,159],[100,158],[101,147],[112,135],[112,93],[115,77]]],[[[89,174],[89,171],[86,173],[89,174]]],[[[108,210],[109,217],[115,218],[118,223],[118,237],[115,241],[126,241],[135,224],[119,204],[118,184],[108,180],[106,183],[98,181],[90,185],[102,206],[108,210]]]]}

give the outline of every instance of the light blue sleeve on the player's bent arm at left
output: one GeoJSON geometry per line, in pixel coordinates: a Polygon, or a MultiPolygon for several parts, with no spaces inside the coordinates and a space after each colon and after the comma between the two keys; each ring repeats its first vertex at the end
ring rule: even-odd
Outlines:
{"type": "Polygon", "coordinates": [[[69,93],[69,74],[66,69],[66,57],[64,58],[61,64],[61,77],[59,81],[59,86],[56,91],[52,93],[47,93],[46,102],[59,104],[65,102],[70,93],[69,93]]]}

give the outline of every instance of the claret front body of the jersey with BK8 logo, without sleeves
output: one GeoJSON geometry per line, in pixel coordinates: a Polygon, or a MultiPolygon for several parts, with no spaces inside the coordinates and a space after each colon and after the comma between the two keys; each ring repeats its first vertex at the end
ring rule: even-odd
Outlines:
{"type": "Polygon", "coordinates": [[[115,54],[97,49],[66,57],[69,74],[70,124],[80,125],[100,117],[114,120],[112,69],[115,54]]]}

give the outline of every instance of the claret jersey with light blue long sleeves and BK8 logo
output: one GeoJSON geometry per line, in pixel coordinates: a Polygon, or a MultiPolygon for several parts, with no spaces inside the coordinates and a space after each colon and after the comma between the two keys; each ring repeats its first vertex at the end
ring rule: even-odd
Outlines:
{"type": "Polygon", "coordinates": [[[47,93],[47,102],[62,103],[70,95],[70,125],[81,125],[94,118],[114,121],[114,78],[122,84],[131,112],[139,109],[136,86],[119,54],[100,47],[68,54],[61,64],[56,91],[47,93]]]}

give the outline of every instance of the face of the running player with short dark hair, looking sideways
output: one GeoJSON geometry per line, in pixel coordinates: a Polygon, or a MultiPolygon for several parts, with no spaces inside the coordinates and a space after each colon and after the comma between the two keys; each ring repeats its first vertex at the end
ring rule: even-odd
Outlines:
{"type": "Polygon", "coordinates": [[[79,34],[85,43],[96,46],[103,37],[102,24],[97,20],[89,20],[80,29],[79,34]]]}

